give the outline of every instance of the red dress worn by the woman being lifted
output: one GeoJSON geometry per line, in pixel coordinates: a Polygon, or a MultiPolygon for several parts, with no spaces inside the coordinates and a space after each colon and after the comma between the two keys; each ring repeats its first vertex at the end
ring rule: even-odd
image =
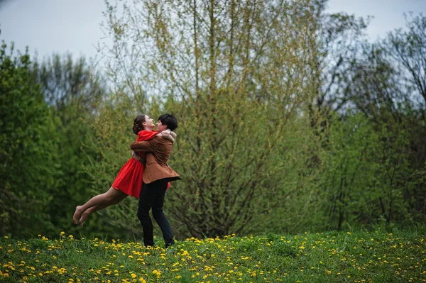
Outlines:
{"type": "MultiPolygon", "coordinates": [[[[157,135],[158,132],[155,131],[140,131],[138,133],[137,142],[142,140],[151,140],[157,135]]],[[[145,157],[145,152],[136,152],[137,155],[141,157],[145,157]]],[[[129,159],[121,170],[119,174],[117,174],[116,179],[112,183],[114,189],[119,189],[121,192],[125,194],[129,194],[129,196],[134,196],[138,198],[141,195],[142,189],[142,175],[143,175],[143,165],[140,161],[133,159],[129,159]]],[[[168,184],[168,188],[170,187],[170,183],[168,184]]]]}

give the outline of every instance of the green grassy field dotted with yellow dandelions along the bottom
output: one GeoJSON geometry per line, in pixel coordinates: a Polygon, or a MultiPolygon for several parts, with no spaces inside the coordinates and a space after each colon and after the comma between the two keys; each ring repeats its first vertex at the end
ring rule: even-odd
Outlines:
{"type": "Polygon", "coordinates": [[[0,282],[426,282],[425,231],[230,235],[167,250],[63,232],[2,237],[0,282]]]}

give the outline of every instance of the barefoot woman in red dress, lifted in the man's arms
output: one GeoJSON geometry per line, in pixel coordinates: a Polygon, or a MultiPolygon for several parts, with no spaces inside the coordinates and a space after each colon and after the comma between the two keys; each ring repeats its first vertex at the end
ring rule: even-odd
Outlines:
{"type": "MultiPolygon", "coordinates": [[[[163,138],[175,141],[175,133],[170,131],[158,133],[153,131],[153,128],[153,119],[149,118],[148,115],[138,115],[135,118],[135,121],[133,121],[132,127],[133,133],[138,135],[136,141],[151,140],[151,138],[154,138],[155,136],[162,136],[163,138]]],[[[143,152],[136,152],[136,154],[139,155],[142,160],[145,158],[145,153],[143,152]]],[[[92,197],[92,199],[89,199],[89,201],[82,206],[77,206],[75,208],[72,221],[74,221],[76,225],[80,223],[80,226],[83,226],[83,222],[86,220],[87,216],[94,213],[94,211],[105,209],[112,204],[119,204],[119,202],[125,199],[126,196],[134,196],[138,198],[142,189],[142,175],[144,167],[145,165],[135,158],[132,157],[129,159],[129,161],[121,167],[121,170],[119,174],[117,174],[111,188],[109,188],[106,193],[98,194],[97,196],[92,197]]]]}

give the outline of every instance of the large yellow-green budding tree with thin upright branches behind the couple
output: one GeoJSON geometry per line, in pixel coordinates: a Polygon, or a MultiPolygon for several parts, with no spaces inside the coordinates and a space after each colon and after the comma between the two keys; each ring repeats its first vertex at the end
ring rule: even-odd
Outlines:
{"type": "Polygon", "coordinates": [[[261,201],[281,194],[271,156],[288,121],[312,100],[314,7],[135,1],[123,16],[118,4],[107,8],[114,45],[103,52],[116,92],[145,97],[144,111],[156,96],[159,109],[180,121],[170,164],[185,179],[170,189],[168,212],[184,225],[182,235],[241,231],[276,204],[261,201]]]}

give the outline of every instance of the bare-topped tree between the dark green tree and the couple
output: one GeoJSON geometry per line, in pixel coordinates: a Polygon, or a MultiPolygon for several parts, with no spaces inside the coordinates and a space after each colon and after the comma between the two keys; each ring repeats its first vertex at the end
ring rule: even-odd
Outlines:
{"type": "MultiPolygon", "coordinates": [[[[54,54],[31,65],[31,74],[53,111],[53,123],[58,134],[58,182],[51,192],[55,196],[48,207],[52,223],[60,231],[77,232],[72,223],[75,206],[92,197],[92,178],[84,172],[90,157],[99,150],[91,148],[92,123],[99,113],[99,101],[107,96],[107,88],[84,57],[54,54]]],[[[84,233],[111,233],[107,219],[93,216],[84,233]]],[[[116,234],[114,234],[116,236],[116,234]]]]}

